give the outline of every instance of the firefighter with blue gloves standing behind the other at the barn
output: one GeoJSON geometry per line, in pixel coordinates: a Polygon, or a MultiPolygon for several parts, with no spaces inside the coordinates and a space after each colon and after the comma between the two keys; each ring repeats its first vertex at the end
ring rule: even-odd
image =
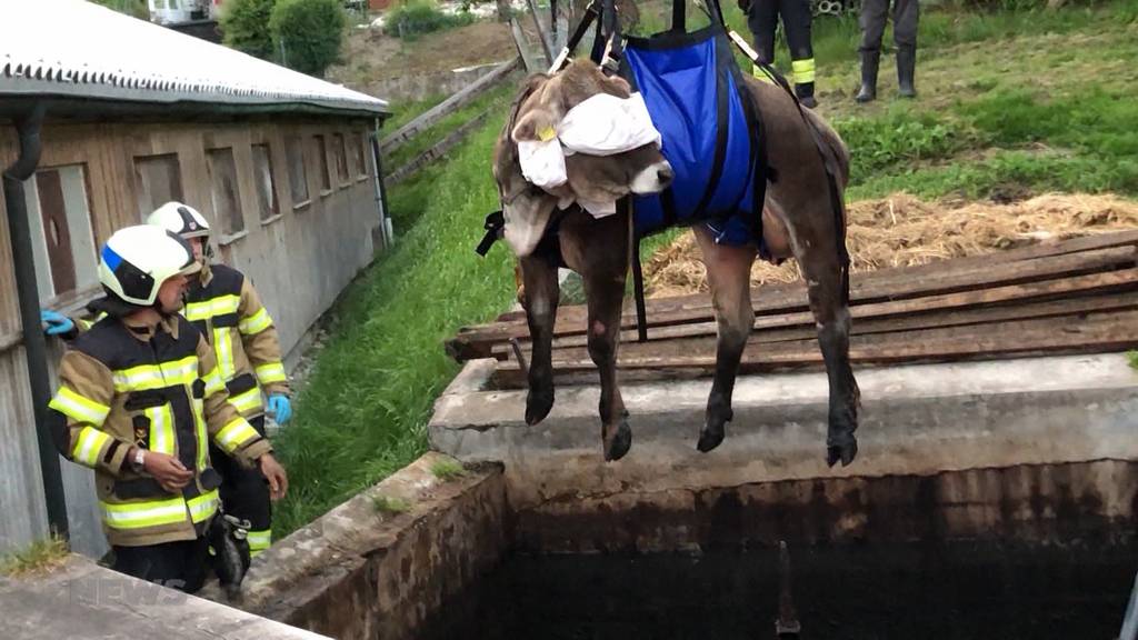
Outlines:
{"type": "MultiPolygon", "coordinates": [[[[292,408],[277,327],[253,284],[236,269],[211,263],[209,224],[193,207],[166,203],[147,218],[147,223],[189,243],[201,265],[190,281],[182,313],[213,346],[230,404],[264,436],[264,392],[277,422],[288,422],[292,408]]],[[[272,540],[272,504],[265,478],[228,459],[218,460],[217,470],[223,478],[221,498],[225,511],[251,524],[249,550],[256,556],[272,540]]]]}

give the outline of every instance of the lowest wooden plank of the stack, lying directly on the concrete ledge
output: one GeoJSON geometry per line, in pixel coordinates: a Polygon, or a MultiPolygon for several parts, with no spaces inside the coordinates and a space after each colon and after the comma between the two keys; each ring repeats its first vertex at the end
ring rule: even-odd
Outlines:
{"type": "MultiPolygon", "coordinates": [[[[850,340],[850,359],[855,364],[868,366],[1046,353],[1124,351],[1138,345],[1138,337],[1133,334],[1136,326],[1138,326],[1138,311],[1127,311],[1092,315],[1089,319],[1064,315],[966,328],[853,336],[850,340]]],[[[817,368],[820,364],[822,354],[815,340],[780,345],[749,343],[743,353],[740,372],[759,374],[803,367],[817,368]]],[[[621,379],[635,377],[635,371],[643,369],[709,375],[715,367],[715,353],[632,356],[622,351],[618,367],[621,370],[621,379]]],[[[560,375],[582,374],[593,369],[595,367],[587,358],[554,361],[554,370],[560,375]]],[[[498,364],[495,381],[504,387],[525,384],[517,363],[512,361],[498,364]]]]}

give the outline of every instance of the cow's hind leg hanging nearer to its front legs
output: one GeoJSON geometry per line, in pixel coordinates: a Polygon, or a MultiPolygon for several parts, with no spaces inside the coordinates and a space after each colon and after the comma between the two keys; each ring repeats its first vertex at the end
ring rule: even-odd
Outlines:
{"type": "Polygon", "coordinates": [[[715,378],[696,449],[708,452],[719,446],[726,425],[733,417],[731,396],[735,389],[739,362],[754,326],[751,306],[751,264],[754,247],[717,245],[704,227],[695,227],[695,239],[703,253],[708,285],[715,304],[718,337],[716,340],[715,378]]]}

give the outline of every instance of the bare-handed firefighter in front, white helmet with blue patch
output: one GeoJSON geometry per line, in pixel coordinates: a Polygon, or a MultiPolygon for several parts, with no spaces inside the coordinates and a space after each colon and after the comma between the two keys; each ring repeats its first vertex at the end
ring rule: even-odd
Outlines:
{"type": "MultiPolygon", "coordinates": [[[[80,334],[59,366],[48,409],[56,446],[96,471],[114,568],[195,592],[223,518],[208,443],[288,489],[269,441],[228,402],[213,350],[178,314],[200,264],[189,245],[154,225],[127,227],[104,245],[105,315],[80,334]]],[[[228,528],[225,528],[229,532],[228,528]]]]}

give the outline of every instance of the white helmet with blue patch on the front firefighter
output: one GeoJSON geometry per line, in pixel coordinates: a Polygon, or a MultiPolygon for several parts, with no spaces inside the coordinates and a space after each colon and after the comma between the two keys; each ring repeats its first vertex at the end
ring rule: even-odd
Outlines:
{"type": "Polygon", "coordinates": [[[115,297],[138,306],[152,305],[170,278],[200,269],[185,240],[150,224],[115,231],[99,254],[99,281],[115,297]]]}

